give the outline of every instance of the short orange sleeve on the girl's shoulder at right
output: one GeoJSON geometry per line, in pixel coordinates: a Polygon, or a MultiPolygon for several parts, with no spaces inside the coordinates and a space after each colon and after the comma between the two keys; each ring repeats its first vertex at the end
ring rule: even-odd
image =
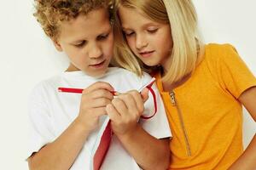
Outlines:
{"type": "Polygon", "coordinates": [[[218,58],[219,75],[224,88],[235,98],[247,90],[256,86],[256,78],[247,65],[236,52],[236,48],[230,44],[224,45],[224,53],[218,58]]]}

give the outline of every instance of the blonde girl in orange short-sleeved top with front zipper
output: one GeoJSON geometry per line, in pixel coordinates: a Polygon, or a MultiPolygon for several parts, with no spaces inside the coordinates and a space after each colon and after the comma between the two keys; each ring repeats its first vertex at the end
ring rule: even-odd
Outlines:
{"type": "Polygon", "coordinates": [[[190,0],[119,0],[116,8],[115,54],[150,71],[164,99],[169,168],[255,169],[256,137],[242,149],[241,106],[255,121],[256,78],[236,49],[201,42],[190,0]]]}

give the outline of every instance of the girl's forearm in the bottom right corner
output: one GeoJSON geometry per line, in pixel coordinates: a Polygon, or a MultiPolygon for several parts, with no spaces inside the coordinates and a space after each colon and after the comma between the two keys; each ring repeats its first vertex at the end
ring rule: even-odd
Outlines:
{"type": "Polygon", "coordinates": [[[229,170],[253,170],[256,168],[256,135],[251,141],[251,143],[247,146],[247,149],[243,152],[243,154],[233,163],[233,165],[229,168],[229,170]]]}

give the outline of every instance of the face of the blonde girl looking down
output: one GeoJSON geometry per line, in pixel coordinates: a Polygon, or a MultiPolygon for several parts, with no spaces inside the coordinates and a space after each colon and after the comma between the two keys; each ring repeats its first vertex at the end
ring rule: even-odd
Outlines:
{"type": "Polygon", "coordinates": [[[166,68],[172,53],[172,33],[169,24],[146,18],[137,9],[119,7],[119,19],[131,51],[145,65],[166,68]]]}

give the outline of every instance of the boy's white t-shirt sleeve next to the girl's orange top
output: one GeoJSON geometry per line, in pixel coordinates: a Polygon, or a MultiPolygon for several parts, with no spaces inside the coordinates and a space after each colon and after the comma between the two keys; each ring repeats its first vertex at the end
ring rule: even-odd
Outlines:
{"type": "MultiPolygon", "coordinates": [[[[143,77],[143,84],[149,82],[151,78],[152,77],[150,77],[148,74],[145,74],[143,77]]],[[[149,119],[141,118],[140,124],[150,135],[157,139],[172,137],[172,133],[166,117],[165,107],[163,105],[162,99],[160,98],[160,93],[155,83],[152,88],[156,97],[157,112],[153,117],[149,119]]],[[[148,97],[148,100],[144,104],[143,116],[151,116],[154,114],[154,99],[150,92],[148,92],[148,97]]]]}

